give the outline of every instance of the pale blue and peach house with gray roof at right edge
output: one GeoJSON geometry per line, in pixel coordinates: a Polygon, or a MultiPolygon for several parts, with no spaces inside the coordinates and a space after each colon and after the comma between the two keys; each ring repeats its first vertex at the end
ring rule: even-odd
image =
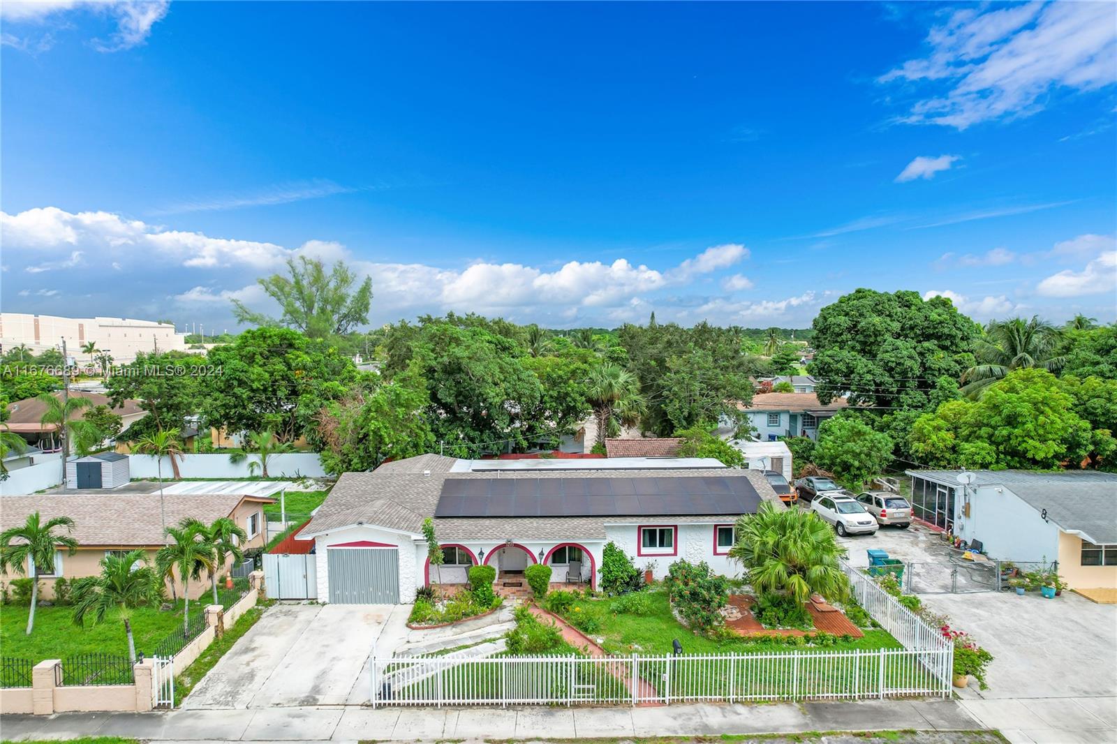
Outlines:
{"type": "Polygon", "coordinates": [[[1075,589],[1117,589],[1117,474],[907,470],[915,516],[1003,561],[1058,561],[1075,589]]]}

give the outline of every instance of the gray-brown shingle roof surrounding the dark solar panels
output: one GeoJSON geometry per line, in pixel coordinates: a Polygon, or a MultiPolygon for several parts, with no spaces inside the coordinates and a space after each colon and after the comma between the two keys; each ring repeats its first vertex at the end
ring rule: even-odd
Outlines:
{"type": "MultiPolygon", "coordinates": [[[[748,478],[763,500],[780,504],[779,497],[764,476],[756,470],[729,468],[660,469],[660,470],[533,470],[507,473],[448,473],[452,458],[438,455],[399,460],[382,465],[372,473],[346,473],[318,507],[311,524],[300,536],[330,532],[353,524],[367,524],[411,534],[420,534],[422,522],[435,516],[435,508],[447,478],[631,478],[633,476],[701,477],[716,473],[719,476],[748,478]],[[431,459],[436,458],[436,459],[431,459]],[[416,462],[412,462],[414,460],[416,462]],[[393,467],[386,468],[388,465],[393,467]],[[438,469],[436,469],[438,468],[438,469]],[[423,475],[430,470],[430,475],[423,475]],[[590,475],[592,474],[592,476],[590,475]]],[[[665,515],[666,516],[666,515],[665,515]]],[[[678,523],[733,522],[736,514],[709,516],[672,516],[678,523]]],[[[649,517],[610,515],[593,517],[450,517],[435,519],[439,538],[449,540],[552,540],[584,537],[603,538],[605,524],[642,523],[649,517]]]]}

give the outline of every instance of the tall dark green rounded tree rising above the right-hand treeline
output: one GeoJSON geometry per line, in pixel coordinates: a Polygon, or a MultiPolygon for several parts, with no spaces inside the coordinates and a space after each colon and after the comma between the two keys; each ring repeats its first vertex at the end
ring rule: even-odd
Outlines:
{"type": "Polygon", "coordinates": [[[977,326],[945,297],[857,289],[814,318],[819,401],[849,392],[851,403],[923,409],[939,378],[973,365],[977,326]]]}

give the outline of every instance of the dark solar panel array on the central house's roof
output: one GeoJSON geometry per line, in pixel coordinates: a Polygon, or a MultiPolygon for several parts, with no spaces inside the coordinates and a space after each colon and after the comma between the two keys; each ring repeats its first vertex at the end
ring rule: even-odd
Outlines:
{"type": "Polygon", "coordinates": [[[447,478],[437,517],[752,514],[761,497],[742,476],[447,478]]]}

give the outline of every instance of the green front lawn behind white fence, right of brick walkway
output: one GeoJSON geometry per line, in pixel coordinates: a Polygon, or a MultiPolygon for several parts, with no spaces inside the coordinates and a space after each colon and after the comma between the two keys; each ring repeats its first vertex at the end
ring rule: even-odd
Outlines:
{"type": "MultiPolygon", "coordinates": [[[[633,650],[646,654],[670,654],[671,641],[676,638],[682,643],[682,650],[686,654],[793,650],[793,647],[789,647],[782,639],[772,640],[761,637],[715,640],[696,636],[671,614],[665,590],[648,590],[647,594],[650,612],[643,616],[613,612],[611,605],[615,600],[610,599],[579,599],[574,602],[571,612],[584,613],[596,621],[600,630],[588,635],[592,638],[604,639],[602,647],[607,654],[628,656],[633,650]]],[[[570,614],[567,613],[567,617],[570,614]]],[[[837,645],[827,648],[836,650],[900,648],[900,643],[885,630],[863,629],[863,638],[848,641],[839,640],[837,645]]]]}

